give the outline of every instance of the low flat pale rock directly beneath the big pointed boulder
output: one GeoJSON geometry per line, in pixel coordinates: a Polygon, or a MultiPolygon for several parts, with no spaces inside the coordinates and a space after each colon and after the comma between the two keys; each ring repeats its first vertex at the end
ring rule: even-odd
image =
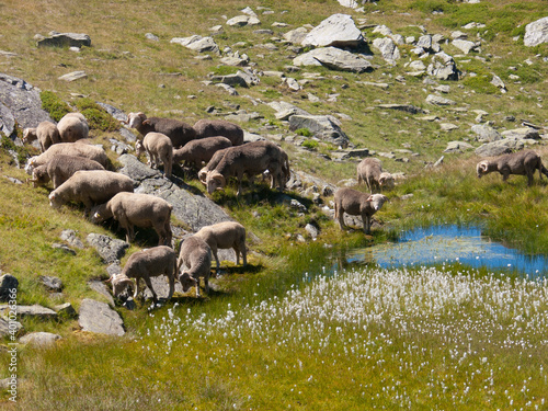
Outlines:
{"type": "Polygon", "coordinates": [[[336,47],[315,48],[293,59],[295,66],[324,66],[330,69],[352,72],[373,70],[372,64],[362,55],[336,47]]]}

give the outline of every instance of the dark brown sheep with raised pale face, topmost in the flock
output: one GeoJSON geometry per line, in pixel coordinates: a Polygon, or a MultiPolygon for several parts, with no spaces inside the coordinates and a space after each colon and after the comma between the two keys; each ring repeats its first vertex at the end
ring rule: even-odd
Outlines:
{"type": "Polygon", "coordinates": [[[174,148],[184,146],[186,142],[196,138],[194,128],[184,122],[173,118],[149,117],[139,113],[129,113],[127,115],[129,127],[136,128],[142,136],[148,133],[161,133],[171,138],[174,148]]]}

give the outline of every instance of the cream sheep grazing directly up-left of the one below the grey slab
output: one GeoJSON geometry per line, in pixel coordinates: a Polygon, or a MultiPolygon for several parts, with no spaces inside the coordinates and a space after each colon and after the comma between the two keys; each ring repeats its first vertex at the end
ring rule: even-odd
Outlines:
{"type": "Polygon", "coordinates": [[[80,170],[49,193],[49,205],[59,208],[67,202],[81,202],[85,214],[96,204],[106,203],[119,192],[133,192],[134,181],[107,170],[80,170]]]}

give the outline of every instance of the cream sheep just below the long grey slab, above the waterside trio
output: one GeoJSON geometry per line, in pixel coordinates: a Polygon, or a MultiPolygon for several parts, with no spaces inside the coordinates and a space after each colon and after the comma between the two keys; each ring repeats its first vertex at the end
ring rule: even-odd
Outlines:
{"type": "Polygon", "coordinates": [[[114,218],[126,230],[126,241],[135,239],[134,226],[152,227],[158,233],[158,246],[171,246],[171,212],[165,199],[150,195],[122,192],[105,204],[93,207],[91,220],[102,222],[114,218]]]}

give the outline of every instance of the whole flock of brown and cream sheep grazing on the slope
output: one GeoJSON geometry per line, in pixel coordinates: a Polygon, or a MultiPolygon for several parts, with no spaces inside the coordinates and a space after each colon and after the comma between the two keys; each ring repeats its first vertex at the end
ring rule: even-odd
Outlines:
{"type": "MultiPolygon", "coordinates": [[[[244,144],[242,128],[227,121],[201,119],[191,126],[178,119],[147,118],[144,113],[129,113],[125,123],[142,136],[135,147],[138,157],[147,152],[148,163],[153,168],[162,163],[167,178],[171,176],[173,163],[199,169],[198,179],[209,194],[222,190],[229,178],[238,180],[238,195],[243,175],[252,181],[256,175],[267,174],[271,189],[278,190],[284,190],[290,178],[288,156],[281,147],[267,140],[244,144]]],[[[82,203],[93,222],[115,219],[126,230],[128,242],[135,239],[135,226],[156,230],[158,247],[132,254],[122,273],[111,276],[115,296],[134,286],[136,298],[142,278],[156,304],[158,297],[150,277],[159,275],[169,278],[168,299],[173,296],[175,277],[185,293],[196,286],[196,296],[199,296],[199,277],[203,277],[207,294],[212,255],[217,264],[216,274],[219,270],[218,249],[232,248],[237,264],[240,255],[243,265],[247,264],[246,228],[233,221],[203,227],[185,238],[178,258],[172,249],[170,219],[173,207],[163,198],[134,193],[134,181],[112,171],[114,168],[106,152],[90,144],[88,135],[88,123],[80,113],[67,114],[57,125],[42,122],[36,128],[25,128],[23,142],[37,139],[43,151],[27,161],[25,170],[32,174],[28,181],[35,186],[52,181],[54,190],[49,203],[54,208],[69,202],[82,203]]],[[[521,151],[477,164],[478,178],[493,171],[500,172],[503,180],[510,174],[521,174],[527,176],[529,185],[536,170],[540,178],[543,173],[548,176],[548,170],[534,151],[521,151]]],[[[347,187],[338,190],[334,217],[344,229],[344,213],[361,216],[364,232],[370,233],[372,216],[388,201],[384,194],[374,192],[392,187],[395,180],[383,171],[380,160],[366,158],[357,165],[357,181],[365,183],[372,194],[347,187]]]]}

